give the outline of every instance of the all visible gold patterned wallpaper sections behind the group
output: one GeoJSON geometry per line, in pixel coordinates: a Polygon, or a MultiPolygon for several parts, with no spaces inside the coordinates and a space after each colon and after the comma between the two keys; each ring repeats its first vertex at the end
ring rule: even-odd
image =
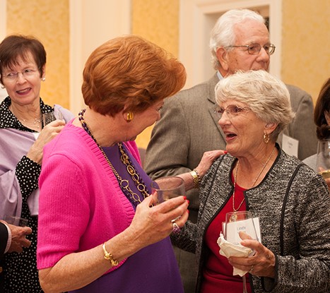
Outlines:
{"type": "MultiPolygon", "coordinates": [[[[281,1],[281,0],[278,0],[281,1]]],[[[330,1],[282,0],[282,79],[310,92],[314,102],[330,76],[330,1]]],[[[42,98],[69,108],[69,0],[7,0],[7,32],[35,35],[47,50],[42,98]]],[[[131,0],[131,32],[175,56],[179,0],[131,0]]],[[[148,145],[151,128],[137,139],[148,145]]]]}

